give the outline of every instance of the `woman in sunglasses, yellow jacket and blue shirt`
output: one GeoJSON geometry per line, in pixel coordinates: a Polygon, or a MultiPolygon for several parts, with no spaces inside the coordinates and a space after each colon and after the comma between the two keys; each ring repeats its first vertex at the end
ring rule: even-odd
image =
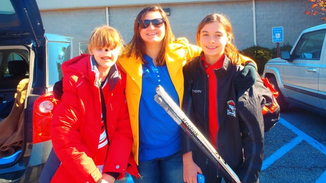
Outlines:
{"type": "MultiPolygon", "coordinates": [[[[175,39],[166,13],[157,6],[144,8],[134,22],[134,35],[118,64],[127,74],[126,98],[133,134],[132,153],[141,178],[134,182],[183,182],[181,133],[178,125],[155,101],[161,85],[182,104],[182,67],[201,48],[175,39]]],[[[250,58],[240,80],[255,81],[250,58]]],[[[245,63],[243,61],[243,63],[245,63]]]]}

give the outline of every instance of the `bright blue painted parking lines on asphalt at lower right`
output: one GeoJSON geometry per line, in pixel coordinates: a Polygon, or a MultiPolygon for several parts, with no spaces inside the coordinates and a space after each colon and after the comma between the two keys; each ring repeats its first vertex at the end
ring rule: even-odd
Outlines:
{"type": "MultiPolygon", "coordinates": [[[[303,131],[297,129],[288,121],[286,121],[283,118],[280,118],[279,122],[289,130],[291,130],[293,133],[297,135],[296,138],[292,139],[289,143],[285,144],[283,147],[279,148],[273,155],[269,156],[263,161],[261,170],[265,170],[268,168],[271,164],[273,164],[275,161],[280,159],[282,156],[284,156],[288,151],[290,151],[295,145],[302,142],[302,140],[307,141],[310,145],[321,151],[324,155],[326,155],[326,146],[319,143],[317,140],[313,139],[309,135],[305,134],[303,131]]],[[[321,174],[321,176],[318,178],[316,183],[325,182],[326,180],[326,171],[321,174]]]]}

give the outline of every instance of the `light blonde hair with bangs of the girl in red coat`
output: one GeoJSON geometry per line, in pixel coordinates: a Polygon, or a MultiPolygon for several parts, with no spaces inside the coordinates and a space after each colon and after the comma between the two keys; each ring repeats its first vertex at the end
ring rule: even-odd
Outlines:
{"type": "Polygon", "coordinates": [[[102,48],[105,46],[114,46],[114,48],[117,48],[123,45],[123,39],[117,29],[108,25],[95,27],[89,41],[90,49],[102,48]]]}

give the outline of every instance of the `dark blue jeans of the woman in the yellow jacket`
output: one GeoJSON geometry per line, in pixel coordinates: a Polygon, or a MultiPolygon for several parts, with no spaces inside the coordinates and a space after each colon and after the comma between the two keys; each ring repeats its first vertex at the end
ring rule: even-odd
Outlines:
{"type": "Polygon", "coordinates": [[[180,183],[183,182],[182,154],[139,162],[138,171],[143,179],[132,176],[134,183],[180,183]]]}

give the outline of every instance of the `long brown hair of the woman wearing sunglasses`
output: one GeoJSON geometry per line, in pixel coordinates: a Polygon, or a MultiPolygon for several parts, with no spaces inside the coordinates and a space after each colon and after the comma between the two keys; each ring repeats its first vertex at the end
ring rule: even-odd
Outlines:
{"type": "Polygon", "coordinates": [[[141,12],[139,12],[139,14],[137,15],[137,17],[133,23],[133,37],[125,49],[125,55],[127,57],[129,57],[129,56],[131,56],[132,53],[134,53],[136,59],[137,60],[141,59],[141,62],[143,62],[143,56],[146,54],[145,53],[145,43],[140,35],[141,27],[139,26],[138,21],[144,20],[145,15],[148,12],[159,12],[161,14],[162,18],[164,18],[164,20],[165,20],[165,36],[162,40],[163,41],[162,49],[159,52],[158,57],[157,57],[157,63],[158,63],[157,65],[163,66],[166,64],[165,54],[166,54],[167,46],[175,38],[172,33],[172,29],[170,26],[168,16],[164,12],[164,10],[158,6],[149,6],[149,7],[144,8],[141,12]]]}

